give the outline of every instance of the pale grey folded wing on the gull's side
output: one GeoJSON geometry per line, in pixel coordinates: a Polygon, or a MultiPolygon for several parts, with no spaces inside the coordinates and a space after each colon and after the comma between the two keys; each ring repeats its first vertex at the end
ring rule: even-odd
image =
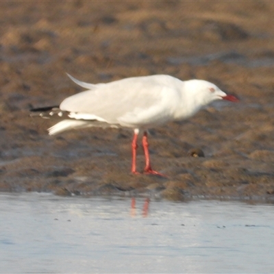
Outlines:
{"type": "Polygon", "coordinates": [[[173,77],[166,77],[132,77],[95,85],[94,90],[64,99],[60,109],[76,113],[75,119],[89,117],[127,127],[165,122],[169,120],[179,96],[169,83],[173,77]]]}

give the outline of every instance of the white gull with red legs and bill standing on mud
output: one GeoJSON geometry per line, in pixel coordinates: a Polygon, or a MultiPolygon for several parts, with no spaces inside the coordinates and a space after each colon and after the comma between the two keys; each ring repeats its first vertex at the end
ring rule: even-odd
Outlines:
{"type": "Polygon", "coordinates": [[[60,116],[48,129],[49,135],[84,127],[123,127],[134,130],[132,173],[136,170],[138,134],[142,132],[144,173],[162,175],[151,168],[147,130],[170,121],[188,119],[212,101],[236,102],[216,85],[201,79],[182,81],[170,75],[129,77],[105,84],[89,84],[68,76],[86,90],[45,108],[34,108],[32,116],[49,119],[60,116]]]}

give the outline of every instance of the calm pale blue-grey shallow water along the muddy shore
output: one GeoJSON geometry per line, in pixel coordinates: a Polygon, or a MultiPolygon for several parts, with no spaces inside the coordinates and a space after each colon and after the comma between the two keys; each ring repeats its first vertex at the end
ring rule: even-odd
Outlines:
{"type": "Polygon", "coordinates": [[[0,272],[273,273],[273,205],[131,204],[0,195],[0,272]]]}

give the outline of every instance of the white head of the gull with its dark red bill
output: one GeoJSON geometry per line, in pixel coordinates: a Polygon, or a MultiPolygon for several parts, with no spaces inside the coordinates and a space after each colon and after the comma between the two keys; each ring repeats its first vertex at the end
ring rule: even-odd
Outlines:
{"type": "Polygon", "coordinates": [[[208,105],[208,103],[215,100],[239,101],[234,95],[228,95],[218,86],[204,80],[193,79],[187,81],[187,89],[192,94],[195,93],[195,99],[201,105],[208,105]]]}

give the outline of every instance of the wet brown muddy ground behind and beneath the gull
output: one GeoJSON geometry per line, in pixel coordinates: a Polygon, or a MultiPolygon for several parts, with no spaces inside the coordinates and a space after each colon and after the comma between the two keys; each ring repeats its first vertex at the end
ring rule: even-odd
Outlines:
{"type": "Polygon", "coordinates": [[[1,1],[0,190],[273,201],[273,14],[269,1],[1,1]],[[82,91],[66,72],[206,79],[240,103],[152,129],[153,168],[167,177],[131,175],[131,131],[49,136],[54,121],[29,117],[82,91]]]}

